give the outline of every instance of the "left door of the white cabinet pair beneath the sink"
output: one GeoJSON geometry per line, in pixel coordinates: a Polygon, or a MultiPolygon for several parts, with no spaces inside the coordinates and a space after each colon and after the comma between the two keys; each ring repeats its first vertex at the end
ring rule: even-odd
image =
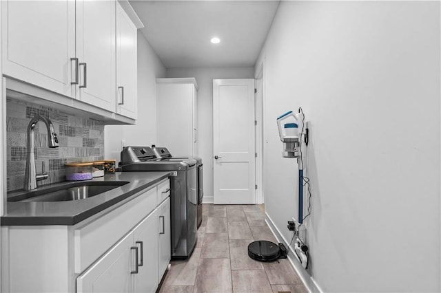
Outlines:
{"type": "Polygon", "coordinates": [[[76,278],[76,292],[133,292],[135,270],[136,249],[131,232],[76,278]]]}

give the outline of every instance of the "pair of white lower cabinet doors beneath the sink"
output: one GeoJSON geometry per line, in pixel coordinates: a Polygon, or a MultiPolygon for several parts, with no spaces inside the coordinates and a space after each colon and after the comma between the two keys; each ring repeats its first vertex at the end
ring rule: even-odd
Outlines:
{"type": "Polygon", "coordinates": [[[83,272],[76,279],[76,292],[154,292],[158,286],[157,214],[158,209],[83,272]]]}

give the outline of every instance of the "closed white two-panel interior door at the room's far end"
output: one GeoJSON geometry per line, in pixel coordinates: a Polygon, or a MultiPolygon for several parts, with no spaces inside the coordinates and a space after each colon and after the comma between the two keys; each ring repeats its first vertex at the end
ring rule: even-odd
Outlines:
{"type": "Polygon", "coordinates": [[[213,80],[214,204],[255,204],[254,79],[213,80]]]}

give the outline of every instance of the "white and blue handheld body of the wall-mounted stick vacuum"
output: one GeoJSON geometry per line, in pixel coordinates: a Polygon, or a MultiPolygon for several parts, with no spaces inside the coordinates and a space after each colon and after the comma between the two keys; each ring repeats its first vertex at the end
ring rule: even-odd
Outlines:
{"type": "Polygon", "coordinates": [[[289,111],[277,118],[278,135],[283,142],[283,157],[285,158],[297,158],[298,157],[298,123],[287,122],[282,123],[284,120],[297,121],[296,116],[292,111],[289,111]]]}

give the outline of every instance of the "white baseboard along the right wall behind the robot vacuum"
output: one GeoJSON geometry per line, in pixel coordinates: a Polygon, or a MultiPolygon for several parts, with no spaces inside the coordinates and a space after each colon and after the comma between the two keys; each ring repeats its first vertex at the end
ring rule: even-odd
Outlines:
{"type": "MultiPolygon", "coordinates": [[[[291,253],[288,253],[289,263],[291,263],[291,266],[294,268],[294,270],[296,271],[296,273],[300,277],[300,280],[302,281],[303,285],[305,285],[307,290],[309,292],[322,293],[323,291],[316,283],[316,280],[314,280],[314,278],[312,278],[308,274],[308,272],[302,267],[302,264],[298,261],[298,259],[296,259],[296,257],[294,257],[294,250],[288,246],[289,241],[287,241],[287,239],[285,239],[285,237],[283,237],[282,233],[280,233],[280,230],[278,230],[278,228],[274,224],[274,221],[272,221],[271,217],[269,217],[269,215],[267,213],[265,213],[265,222],[269,226],[269,229],[273,233],[274,237],[276,237],[277,241],[284,243],[285,246],[287,247],[287,249],[289,250],[289,252],[291,252],[291,253]]],[[[291,240],[291,239],[289,239],[289,240],[291,240]]]]}

